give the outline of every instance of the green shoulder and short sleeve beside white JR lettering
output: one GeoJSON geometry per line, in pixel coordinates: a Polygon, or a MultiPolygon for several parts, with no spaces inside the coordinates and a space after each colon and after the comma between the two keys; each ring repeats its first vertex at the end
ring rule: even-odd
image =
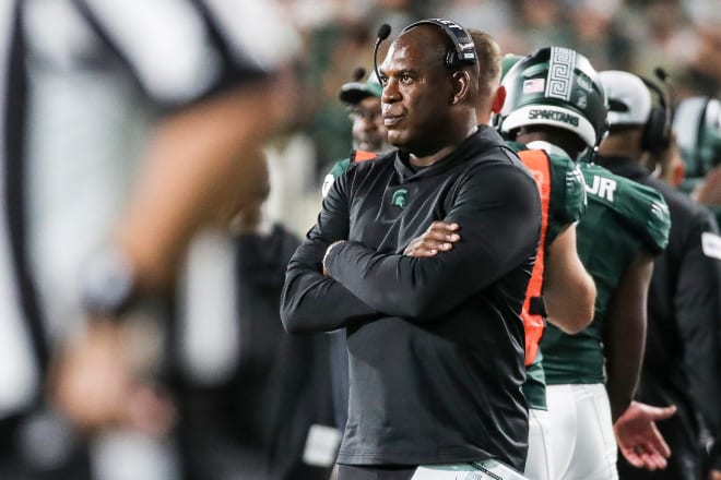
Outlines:
{"type": "Polygon", "coordinates": [[[613,175],[598,165],[582,164],[580,168],[589,195],[594,195],[620,215],[642,238],[643,245],[650,253],[659,254],[665,250],[671,216],[661,193],[613,175]]]}

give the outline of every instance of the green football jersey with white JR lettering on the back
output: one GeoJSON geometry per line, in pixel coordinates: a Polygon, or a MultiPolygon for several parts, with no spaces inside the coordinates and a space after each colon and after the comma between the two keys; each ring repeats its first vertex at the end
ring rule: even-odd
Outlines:
{"type": "Polygon", "coordinates": [[[577,227],[578,253],[595,281],[593,322],[576,335],[548,325],[541,341],[548,385],[604,383],[603,321],[611,296],[639,252],[661,253],[671,218],[661,194],[593,164],[579,165],[588,208],[577,227]]]}

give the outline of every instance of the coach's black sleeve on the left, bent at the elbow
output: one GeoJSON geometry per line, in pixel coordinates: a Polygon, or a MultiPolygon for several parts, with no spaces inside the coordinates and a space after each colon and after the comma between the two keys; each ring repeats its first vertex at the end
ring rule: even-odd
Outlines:
{"type": "Polygon", "coordinates": [[[288,263],[281,297],[281,319],[288,332],[330,332],[377,315],[341,284],[322,275],[326,249],[348,235],[345,177],[333,183],[318,223],[288,263]]]}

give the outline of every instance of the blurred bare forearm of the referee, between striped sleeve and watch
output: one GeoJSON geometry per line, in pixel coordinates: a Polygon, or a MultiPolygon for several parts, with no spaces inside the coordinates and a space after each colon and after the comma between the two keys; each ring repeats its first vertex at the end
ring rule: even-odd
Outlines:
{"type": "Polygon", "coordinates": [[[271,85],[243,85],[157,129],[116,230],[139,291],[166,286],[198,227],[236,207],[238,194],[257,180],[260,142],[277,121],[271,85]]]}

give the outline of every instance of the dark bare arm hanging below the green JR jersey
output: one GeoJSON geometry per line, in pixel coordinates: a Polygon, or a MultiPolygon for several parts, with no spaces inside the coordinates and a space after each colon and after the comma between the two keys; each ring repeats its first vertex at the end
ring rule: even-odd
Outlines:
{"type": "Polygon", "coordinates": [[[653,256],[640,252],[624,272],[608,302],[603,326],[606,391],[613,420],[628,408],[646,347],[646,309],[653,256]]]}

